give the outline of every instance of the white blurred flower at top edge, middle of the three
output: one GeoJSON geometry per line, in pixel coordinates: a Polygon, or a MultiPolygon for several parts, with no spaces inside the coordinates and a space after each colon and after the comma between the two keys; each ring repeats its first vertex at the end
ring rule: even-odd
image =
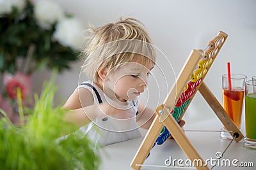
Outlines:
{"type": "Polygon", "coordinates": [[[64,12],[54,1],[36,1],[35,17],[40,27],[50,29],[52,24],[64,17],[64,12]]]}

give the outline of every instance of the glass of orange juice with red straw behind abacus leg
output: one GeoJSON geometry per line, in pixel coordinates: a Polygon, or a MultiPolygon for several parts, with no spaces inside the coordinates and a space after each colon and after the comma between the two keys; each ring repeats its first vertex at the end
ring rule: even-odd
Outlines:
{"type": "MultiPolygon", "coordinates": [[[[233,120],[238,129],[241,129],[241,115],[243,110],[244,89],[247,76],[243,74],[222,75],[222,103],[224,110],[233,120]]],[[[223,127],[221,139],[233,139],[233,136],[223,127]]]]}

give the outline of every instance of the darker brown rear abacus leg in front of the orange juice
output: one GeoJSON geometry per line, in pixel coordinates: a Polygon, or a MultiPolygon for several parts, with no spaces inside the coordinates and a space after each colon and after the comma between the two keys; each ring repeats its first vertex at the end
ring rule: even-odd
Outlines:
{"type": "Polygon", "coordinates": [[[236,136],[235,141],[238,142],[243,139],[243,134],[236,127],[234,122],[228,116],[227,112],[223,109],[221,104],[218,102],[218,99],[212,94],[211,90],[207,87],[207,85],[203,82],[199,88],[200,94],[204,97],[205,101],[211,106],[214,113],[220,119],[222,124],[226,127],[232,136],[236,136]]]}

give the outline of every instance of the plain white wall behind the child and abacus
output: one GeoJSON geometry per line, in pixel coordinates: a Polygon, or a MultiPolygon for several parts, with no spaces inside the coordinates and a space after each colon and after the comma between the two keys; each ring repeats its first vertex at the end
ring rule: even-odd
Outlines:
{"type": "MultiPolygon", "coordinates": [[[[114,22],[120,16],[138,18],[147,27],[154,45],[170,60],[176,76],[192,49],[204,49],[218,31],[227,32],[229,37],[205,78],[205,82],[220,102],[221,74],[227,72],[227,62],[231,62],[232,73],[246,74],[249,78],[256,75],[254,0],[52,1],[58,1],[65,10],[81,18],[86,27],[89,23],[98,27],[114,22]]],[[[163,62],[165,59],[161,60],[163,62]]],[[[76,88],[81,64],[83,63],[77,62],[72,70],[58,76],[60,101],[65,101],[76,88]]],[[[170,66],[166,64],[164,67],[170,66]]],[[[173,82],[169,83],[171,87],[173,82]]],[[[159,85],[160,89],[165,88],[164,83],[159,85]]],[[[156,92],[152,86],[149,86],[148,91],[153,94],[156,92]]],[[[163,101],[166,92],[161,95],[163,101]]],[[[196,94],[188,112],[186,118],[193,121],[214,117],[214,113],[200,94],[196,94]],[[204,115],[199,115],[198,112],[202,113],[202,110],[205,111],[204,115]]]]}

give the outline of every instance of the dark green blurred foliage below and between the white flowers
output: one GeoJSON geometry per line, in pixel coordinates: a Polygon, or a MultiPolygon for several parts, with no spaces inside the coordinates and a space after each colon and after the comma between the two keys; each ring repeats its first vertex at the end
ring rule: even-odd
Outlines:
{"type": "Polygon", "coordinates": [[[28,57],[31,44],[36,46],[31,56],[31,61],[38,65],[36,69],[42,67],[58,67],[60,71],[67,69],[74,60],[78,59],[77,53],[67,46],[60,45],[56,39],[52,39],[56,23],[52,24],[49,30],[40,28],[35,20],[33,4],[28,0],[26,3],[26,8],[21,13],[13,8],[9,15],[0,17],[0,52],[8,58],[1,60],[0,70],[13,73],[17,58],[28,57]]]}

